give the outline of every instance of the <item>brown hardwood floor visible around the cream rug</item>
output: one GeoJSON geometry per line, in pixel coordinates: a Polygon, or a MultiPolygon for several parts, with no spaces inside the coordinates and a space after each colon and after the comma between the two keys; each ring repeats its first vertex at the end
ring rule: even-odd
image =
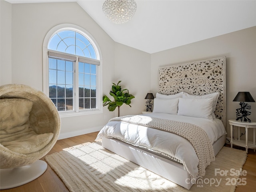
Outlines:
{"type": "MultiPolygon", "coordinates": [[[[60,152],[64,148],[77,146],[80,144],[86,144],[88,142],[94,142],[98,132],[84,134],[76,137],[58,140],[52,150],[47,154],[60,152]]],[[[44,160],[44,157],[41,159],[44,160]]],[[[246,163],[243,166],[243,170],[247,171],[246,185],[236,187],[235,192],[250,192],[255,191],[256,188],[256,152],[248,150],[248,157],[246,163]]],[[[36,180],[29,182],[28,184],[7,189],[0,190],[1,192],[69,192],[68,188],[64,185],[62,180],[56,175],[56,173],[48,166],[46,172],[36,180]]]]}

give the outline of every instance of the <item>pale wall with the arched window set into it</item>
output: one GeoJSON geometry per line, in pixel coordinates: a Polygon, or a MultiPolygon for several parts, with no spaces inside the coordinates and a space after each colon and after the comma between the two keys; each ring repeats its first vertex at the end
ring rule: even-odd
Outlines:
{"type": "MultiPolygon", "coordinates": [[[[12,83],[43,88],[42,44],[47,32],[63,23],[75,24],[88,31],[102,52],[103,92],[114,72],[114,41],[75,2],[12,4],[12,83]],[[108,75],[106,75],[108,74],[108,75]]],[[[61,118],[60,138],[100,130],[113,116],[102,114],[61,118]]]]}

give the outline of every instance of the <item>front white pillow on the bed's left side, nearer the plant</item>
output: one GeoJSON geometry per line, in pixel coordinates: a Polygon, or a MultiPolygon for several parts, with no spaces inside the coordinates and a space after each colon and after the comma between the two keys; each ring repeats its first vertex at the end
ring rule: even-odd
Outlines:
{"type": "Polygon", "coordinates": [[[154,99],[153,113],[168,113],[176,115],[178,112],[179,98],[176,99],[154,99]]]}

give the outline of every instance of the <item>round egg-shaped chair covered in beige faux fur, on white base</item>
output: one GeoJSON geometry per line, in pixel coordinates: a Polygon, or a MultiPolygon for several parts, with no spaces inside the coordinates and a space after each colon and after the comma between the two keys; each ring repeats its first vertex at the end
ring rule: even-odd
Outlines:
{"type": "MultiPolygon", "coordinates": [[[[36,178],[43,174],[47,164],[39,159],[52,149],[59,134],[60,116],[48,96],[26,85],[0,86],[0,189],[17,186],[17,179],[7,178],[10,172],[22,172],[17,168],[34,164],[32,171],[42,172],[36,178]]],[[[21,180],[26,181],[18,181],[18,186],[35,179],[26,176],[30,173],[22,172],[21,180]]]]}

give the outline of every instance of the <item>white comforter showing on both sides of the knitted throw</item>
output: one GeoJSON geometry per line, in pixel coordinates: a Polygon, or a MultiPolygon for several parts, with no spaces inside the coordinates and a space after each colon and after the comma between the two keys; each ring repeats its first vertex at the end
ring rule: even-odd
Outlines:
{"type": "MultiPolygon", "coordinates": [[[[162,113],[145,114],[145,116],[188,122],[199,126],[208,134],[212,143],[226,134],[224,125],[219,119],[209,120],[162,113]]],[[[198,175],[199,159],[194,147],[188,140],[176,134],[136,124],[111,121],[100,130],[96,140],[102,137],[117,138],[158,152],[182,163],[192,178],[198,175]]]]}

